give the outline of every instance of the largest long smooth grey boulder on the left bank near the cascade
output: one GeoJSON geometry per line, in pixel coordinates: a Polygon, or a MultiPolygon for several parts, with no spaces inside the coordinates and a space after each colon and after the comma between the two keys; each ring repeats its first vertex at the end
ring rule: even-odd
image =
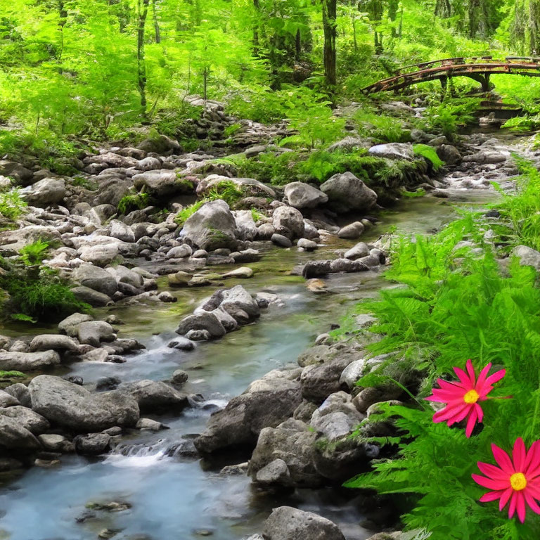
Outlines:
{"type": "Polygon", "coordinates": [[[52,375],[39,375],[30,385],[32,410],[49,422],[76,431],[92,432],[131,427],[139,420],[135,399],[118,391],[92,394],[52,375]]]}

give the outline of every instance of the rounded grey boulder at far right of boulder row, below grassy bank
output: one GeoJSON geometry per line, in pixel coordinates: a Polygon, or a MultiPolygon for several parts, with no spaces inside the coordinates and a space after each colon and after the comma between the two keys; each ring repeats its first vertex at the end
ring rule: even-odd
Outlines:
{"type": "Polygon", "coordinates": [[[321,186],[328,205],[336,212],[364,212],[377,202],[377,194],[352,172],[334,174],[321,186]]]}

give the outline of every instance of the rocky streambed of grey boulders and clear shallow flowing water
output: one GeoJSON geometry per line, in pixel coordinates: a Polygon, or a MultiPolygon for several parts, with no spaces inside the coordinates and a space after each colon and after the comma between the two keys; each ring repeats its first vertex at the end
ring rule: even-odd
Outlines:
{"type": "MultiPolygon", "coordinates": [[[[0,394],[0,537],[233,540],[262,532],[278,506],[329,518],[342,532],[321,522],[328,539],[384,529],[392,508],[339,486],[380,454],[348,435],[371,406],[399,396],[358,393],[354,381],[377,359],[361,342],[332,344],[328,331],[387,286],[380,236],[394,225],[427,232],[451,219],[451,203],[494,200],[491,180],[513,186],[511,148],[468,136],[448,174],[429,184],[435,197],[401,201],[376,221],[366,219],[376,195],[347,173],[326,189],[286,186],[257,223],[222,200],[207,203],[181,233],[173,219],[144,221],[149,210],[113,221],[109,203],[66,210],[66,194],[32,207],[20,229],[2,233],[14,239],[4,250],[49,231],[63,246],[48,264],[96,309],[3,338],[0,368],[32,380],[0,394]],[[347,190],[346,200],[335,195],[347,190]],[[352,214],[325,214],[332,197],[352,214]]],[[[138,158],[131,167],[154,157],[138,158]]],[[[100,159],[105,168],[89,161],[87,174],[110,168],[113,158],[100,159]]],[[[160,172],[144,176],[146,186],[161,189],[165,173],[151,170],[160,172]]],[[[274,513],[264,538],[309,518],[291,512],[274,513]]]]}

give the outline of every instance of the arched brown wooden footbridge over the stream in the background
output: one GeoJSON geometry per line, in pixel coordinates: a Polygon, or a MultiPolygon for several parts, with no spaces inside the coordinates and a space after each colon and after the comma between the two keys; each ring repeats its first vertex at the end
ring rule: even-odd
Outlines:
{"type": "Polygon", "coordinates": [[[540,58],[526,56],[508,56],[496,60],[492,56],[473,58],[443,58],[419,64],[406,65],[394,71],[392,77],[382,79],[362,89],[364,94],[375,94],[383,91],[396,91],[418,84],[439,80],[446,87],[452,77],[469,77],[482,84],[482,91],[487,92],[491,86],[491,75],[525,75],[540,77],[540,58]]]}

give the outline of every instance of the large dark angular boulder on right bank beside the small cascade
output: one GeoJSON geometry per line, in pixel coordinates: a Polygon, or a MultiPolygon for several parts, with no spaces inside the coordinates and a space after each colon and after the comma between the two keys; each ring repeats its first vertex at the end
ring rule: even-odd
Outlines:
{"type": "MultiPolygon", "coordinates": [[[[255,446],[263,428],[293,416],[302,401],[297,370],[271,371],[212,414],[206,430],[195,439],[201,454],[235,446],[255,446]]],[[[267,465],[268,463],[264,463],[267,465]]]]}

